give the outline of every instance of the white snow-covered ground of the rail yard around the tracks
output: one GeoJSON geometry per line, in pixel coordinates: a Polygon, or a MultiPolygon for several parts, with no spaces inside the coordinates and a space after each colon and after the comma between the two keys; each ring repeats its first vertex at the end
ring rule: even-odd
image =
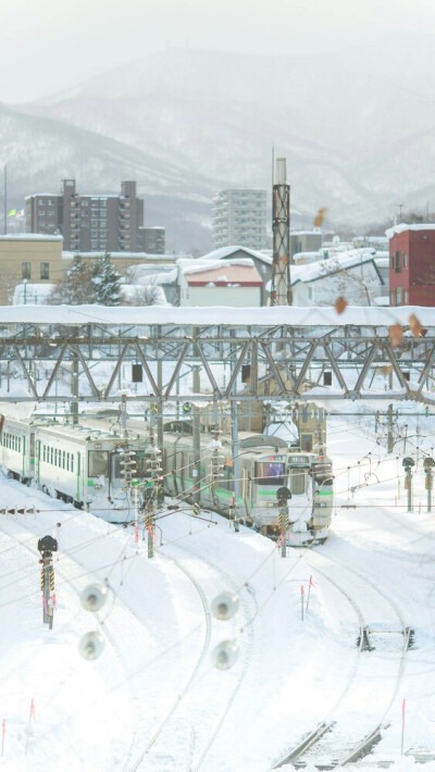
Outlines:
{"type": "Polygon", "coordinates": [[[325,722],[331,731],[303,757],[308,770],[344,758],[380,725],[371,755],[347,769],[435,770],[435,513],[426,513],[422,470],[433,424],[422,419],[417,431],[410,415],[407,446],[388,457],[373,419],[330,419],[331,538],[285,559],[214,513],[170,511],[150,560],[141,533],[136,544],[133,528],[0,476],[0,508],[39,510],[0,515],[0,767],[266,772],[325,722]],[[413,512],[403,450],[417,460],[413,512]],[[42,624],[37,552],[47,533],[60,545],[52,631],[42,624]],[[95,580],[110,587],[97,615],[79,602],[95,580]],[[223,589],[240,600],[227,622],[209,612],[223,589]],[[359,646],[361,627],[372,650],[359,646]],[[78,640],[91,630],[104,650],[86,661],[78,640]],[[228,671],[211,659],[224,639],[239,646],[228,671]]]}

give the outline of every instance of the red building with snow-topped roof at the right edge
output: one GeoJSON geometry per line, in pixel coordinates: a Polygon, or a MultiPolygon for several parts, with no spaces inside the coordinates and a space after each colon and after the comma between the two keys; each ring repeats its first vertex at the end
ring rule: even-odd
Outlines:
{"type": "Polygon", "coordinates": [[[435,306],[435,225],[395,225],[389,238],[389,304],[435,306]]]}

